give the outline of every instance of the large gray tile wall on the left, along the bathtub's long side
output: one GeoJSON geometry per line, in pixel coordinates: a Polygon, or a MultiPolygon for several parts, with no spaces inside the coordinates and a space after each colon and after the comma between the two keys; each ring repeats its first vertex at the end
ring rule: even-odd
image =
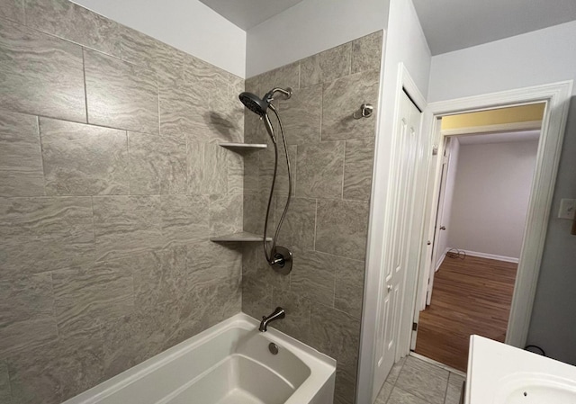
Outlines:
{"type": "Polygon", "coordinates": [[[59,403],[241,309],[244,80],[0,0],[0,402],[59,403]]]}

